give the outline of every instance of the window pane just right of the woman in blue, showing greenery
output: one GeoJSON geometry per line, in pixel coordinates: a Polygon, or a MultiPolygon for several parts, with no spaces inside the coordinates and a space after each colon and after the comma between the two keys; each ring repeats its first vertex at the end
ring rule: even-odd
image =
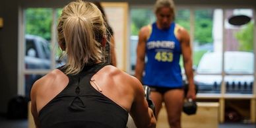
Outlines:
{"type": "Polygon", "coordinates": [[[220,93],[222,83],[222,9],[195,11],[193,65],[199,93],[220,93]]]}

